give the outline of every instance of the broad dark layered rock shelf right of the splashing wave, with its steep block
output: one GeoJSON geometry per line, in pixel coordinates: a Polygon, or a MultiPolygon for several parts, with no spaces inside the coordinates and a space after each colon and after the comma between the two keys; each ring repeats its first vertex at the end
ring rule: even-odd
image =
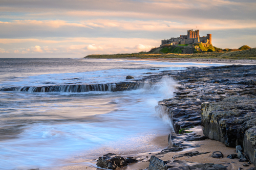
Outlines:
{"type": "MultiPolygon", "coordinates": [[[[172,118],[175,133],[202,125],[206,137],[228,147],[241,145],[238,151],[244,151],[243,155],[256,165],[256,66],[188,67],[184,71],[166,71],[166,74],[180,86],[174,98],[160,101],[158,105],[166,107],[164,110],[172,118]]],[[[172,140],[175,139],[172,137],[172,140]]],[[[189,147],[185,142],[173,141],[173,144],[189,147]]]]}

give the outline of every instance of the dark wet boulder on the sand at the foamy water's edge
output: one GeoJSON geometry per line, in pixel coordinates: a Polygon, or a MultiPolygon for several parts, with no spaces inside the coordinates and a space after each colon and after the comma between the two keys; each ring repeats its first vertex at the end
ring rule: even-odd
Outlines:
{"type": "Polygon", "coordinates": [[[105,169],[116,169],[126,166],[127,162],[123,157],[109,153],[99,157],[96,165],[105,169]]]}

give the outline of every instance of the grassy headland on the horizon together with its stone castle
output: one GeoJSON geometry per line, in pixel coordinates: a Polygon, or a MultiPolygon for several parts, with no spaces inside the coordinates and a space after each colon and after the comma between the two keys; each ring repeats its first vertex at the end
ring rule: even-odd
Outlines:
{"type": "MultiPolygon", "coordinates": [[[[243,45],[238,49],[219,48],[212,45],[212,36],[200,37],[199,30],[188,30],[187,35],[164,39],[159,47],[148,52],[126,54],[88,55],[84,58],[139,58],[139,59],[204,59],[204,60],[255,60],[256,48],[243,45]]],[[[243,63],[245,61],[242,61],[243,63]]],[[[248,62],[250,63],[250,62],[248,62]]]]}

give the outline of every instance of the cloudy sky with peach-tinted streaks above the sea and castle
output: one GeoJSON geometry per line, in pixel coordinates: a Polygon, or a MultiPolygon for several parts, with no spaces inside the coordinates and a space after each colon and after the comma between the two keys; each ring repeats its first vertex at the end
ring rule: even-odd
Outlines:
{"type": "Polygon", "coordinates": [[[0,58],[149,51],[190,29],[254,47],[255,16],[255,0],[1,0],[0,58]]]}

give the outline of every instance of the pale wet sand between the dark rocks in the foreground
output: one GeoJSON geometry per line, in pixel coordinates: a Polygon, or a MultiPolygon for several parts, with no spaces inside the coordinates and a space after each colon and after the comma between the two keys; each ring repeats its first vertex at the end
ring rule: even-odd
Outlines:
{"type": "MultiPolygon", "coordinates": [[[[189,131],[194,131],[195,133],[199,134],[199,135],[203,135],[202,132],[202,127],[196,127],[196,128],[191,128],[189,129],[189,131]]],[[[140,162],[137,163],[132,163],[129,164],[123,168],[119,168],[120,170],[132,170],[132,169],[145,169],[148,167],[148,165],[150,164],[149,160],[151,155],[157,154],[159,152],[161,152],[161,150],[163,149],[167,149],[168,147],[168,140],[167,140],[168,134],[166,135],[161,135],[161,136],[156,136],[152,141],[151,144],[156,144],[159,148],[159,150],[156,150],[154,152],[148,152],[145,151],[143,153],[136,153],[135,151],[132,151],[132,154],[124,154],[124,155],[120,155],[124,158],[126,157],[134,157],[138,160],[141,160],[140,162]]],[[[190,161],[190,162],[199,162],[199,163],[215,163],[215,164],[223,164],[224,166],[227,166],[228,170],[231,169],[238,169],[239,167],[244,168],[244,169],[249,169],[251,167],[254,167],[253,164],[250,164],[247,167],[244,167],[242,164],[243,163],[248,163],[248,162],[239,162],[239,159],[229,159],[227,158],[228,155],[230,154],[237,154],[236,153],[236,149],[235,148],[229,148],[226,147],[223,143],[216,141],[216,140],[210,140],[210,139],[206,139],[203,141],[197,141],[197,142],[193,142],[194,145],[201,145],[201,147],[198,148],[191,148],[191,149],[186,149],[183,150],[181,152],[170,152],[165,154],[164,157],[162,157],[162,159],[165,160],[172,160],[173,156],[175,155],[179,155],[179,154],[184,154],[187,152],[191,152],[191,151],[198,151],[198,152],[210,152],[208,154],[204,154],[204,155],[198,155],[198,156],[193,156],[193,157],[180,157],[180,158],[176,158],[177,160],[185,160],[185,161],[190,161]],[[212,152],[215,151],[221,151],[222,154],[224,155],[223,158],[212,158],[210,157],[212,152]]],[[[110,153],[115,153],[115,152],[110,152],[110,153]]],[[[102,155],[105,153],[102,153],[102,155]]],[[[102,156],[100,155],[100,156],[102,156]]],[[[51,169],[67,169],[67,170],[73,170],[73,169],[90,169],[90,170],[95,170],[95,169],[103,169],[103,168],[99,168],[96,167],[96,159],[97,157],[94,157],[90,163],[88,162],[84,162],[84,159],[80,159],[80,160],[76,160],[76,161],[72,161],[72,163],[74,164],[74,166],[72,165],[68,165],[68,166],[61,166],[61,167],[53,167],[51,169]],[[94,159],[94,160],[93,160],[94,159]],[[81,165],[81,163],[84,162],[84,165],[81,165]],[[79,164],[79,165],[77,165],[79,164]]]]}

